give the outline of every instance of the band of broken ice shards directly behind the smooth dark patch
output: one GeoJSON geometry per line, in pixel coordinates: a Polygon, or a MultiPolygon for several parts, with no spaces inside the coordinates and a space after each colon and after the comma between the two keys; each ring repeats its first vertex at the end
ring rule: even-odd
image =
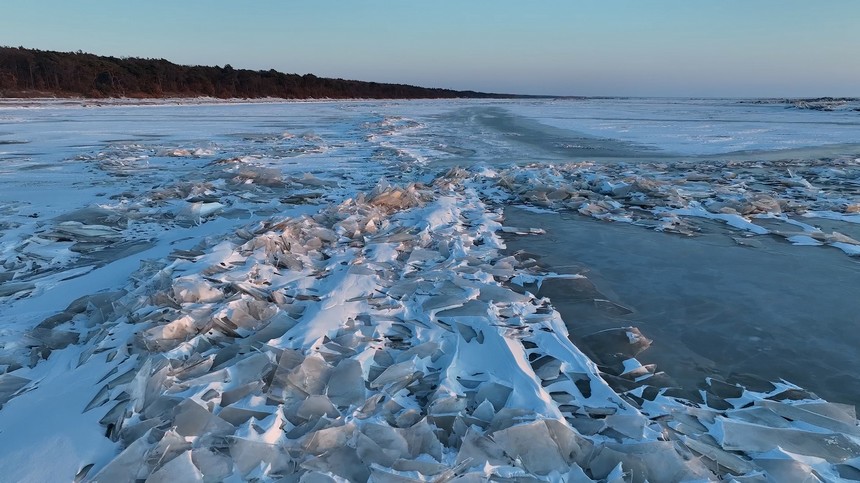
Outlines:
{"type": "Polygon", "coordinates": [[[773,234],[860,255],[860,161],[853,158],[561,163],[499,174],[498,186],[514,200],[539,207],[684,235],[701,230],[697,220],[717,220],[744,237],[773,234]],[[848,233],[822,229],[821,220],[848,233]]]}

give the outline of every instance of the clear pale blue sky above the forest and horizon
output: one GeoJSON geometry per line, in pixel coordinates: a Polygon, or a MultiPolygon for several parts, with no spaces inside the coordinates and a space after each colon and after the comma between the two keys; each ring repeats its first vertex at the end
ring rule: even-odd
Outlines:
{"type": "Polygon", "coordinates": [[[0,45],[505,93],[860,96],[860,0],[26,0],[0,45]]]}

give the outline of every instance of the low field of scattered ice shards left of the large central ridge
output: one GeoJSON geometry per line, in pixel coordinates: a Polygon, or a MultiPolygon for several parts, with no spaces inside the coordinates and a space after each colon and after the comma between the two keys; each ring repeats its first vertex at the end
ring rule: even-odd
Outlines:
{"type": "Polygon", "coordinates": [[[0,298],[38,295],[60,280],[146,250],[163,241],[165,232],[214,219],[246,223],[279,212],[282,203],[323,202],[338,186],[311,173],[285,175],[261,156],[198,159],[214,154],[123,144],[69,161],[118,178],[123,191],[50,219],[34,214],[7,222],[0,234],[0,298]],[[177,179],[166,173],[159,160],[165,157],[188,158],[187,166],[171,169],[193,175],[177,179]]]}

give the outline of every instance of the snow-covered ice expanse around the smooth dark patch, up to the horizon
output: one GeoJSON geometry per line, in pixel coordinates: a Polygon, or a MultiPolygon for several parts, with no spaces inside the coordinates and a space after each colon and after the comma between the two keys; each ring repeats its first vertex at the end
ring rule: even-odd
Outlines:
{"type": "MultiPolygon", "coordinates": [[[[787,381],[708,378],[688,397],[660,383],[671,367],[637,359],[651,341],[636,327],[590,334],[589,357],[536,295],[588,274],[503,238],[545,232],[504,226],[519,204],[855,263],[860,162],[681,158],[695,138],[660,136],[627,159],[656,128],[628,116],[633,134],[592,138],[595,110],[643,109],[614,102],[0,107],[0,141],[15,141],[0,144],[4,478],[860,477],[853,405],[787,381]],[[534,135],[569,128],[559,116],[585,119],[571,158],[534,135]]],[[[773,129],[719,152],[786,148],[768,136],[787,119],[832,114],[683,106],[773,129]]],[[[850,149],[846,119],[795,147],[850,149]]]]}

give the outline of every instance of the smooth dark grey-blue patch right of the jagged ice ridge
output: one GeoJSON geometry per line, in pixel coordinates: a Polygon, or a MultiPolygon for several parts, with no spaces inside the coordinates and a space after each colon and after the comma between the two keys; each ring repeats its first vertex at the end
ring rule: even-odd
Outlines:
{"type": "MultiPolygon", "coordinates": [[[[860,263],[835,248],[775,237],[739,246],[721,229],[687,238],[581,216],[506,210],[506,224],[546,235],[508,240],[549,269],[582,273],[607,310],[565,281],[547,281],[574,342],[637,326],[653,340],[638,356],[681,387],[707,376],[785,379],[832,402],[860,404],[860,263]]],[[[584,348],[587,349],[587,348],[584,348]]]]}

